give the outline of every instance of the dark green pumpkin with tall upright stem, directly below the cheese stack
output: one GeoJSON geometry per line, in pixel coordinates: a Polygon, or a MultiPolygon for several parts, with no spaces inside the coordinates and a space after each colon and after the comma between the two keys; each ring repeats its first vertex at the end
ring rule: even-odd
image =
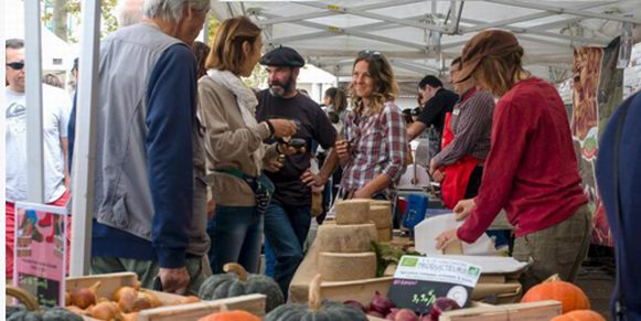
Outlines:
{"type": "Polygon", "coordinates": [[[341,302],[321,301],[321,275],[317,275],[309,287],[308,304],[285,304],[267,313],[265,321],[367,321],[365,313],[341,302]]]}

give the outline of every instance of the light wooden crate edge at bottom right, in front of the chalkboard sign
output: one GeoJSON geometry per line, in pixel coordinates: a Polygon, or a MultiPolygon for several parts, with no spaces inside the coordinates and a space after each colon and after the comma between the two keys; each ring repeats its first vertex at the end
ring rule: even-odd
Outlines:
{"type": "Polygon", "coordinates": [[[444,312],[439,321],[539,321],[560,315],[559,301],[483,306],[444,312]]]}

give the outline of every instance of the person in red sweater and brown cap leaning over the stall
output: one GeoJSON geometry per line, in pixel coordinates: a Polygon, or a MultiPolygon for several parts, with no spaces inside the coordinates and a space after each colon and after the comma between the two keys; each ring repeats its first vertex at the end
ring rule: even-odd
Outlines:
{"type": "Polygon", "coordinates": [[[500,97],[491,148],[477,197],[457,204],[458,229],[437,237],[472,243],[501,208],[515,228],[513,257],[532,260],[524,290],[552,275],[574,282],[589,246],[591,214],[581,189],[563,100],[549,83],[522,66],[523,47],[505,31],[484,31],[463,47],[458,83],[473,78],[500,97]]]}

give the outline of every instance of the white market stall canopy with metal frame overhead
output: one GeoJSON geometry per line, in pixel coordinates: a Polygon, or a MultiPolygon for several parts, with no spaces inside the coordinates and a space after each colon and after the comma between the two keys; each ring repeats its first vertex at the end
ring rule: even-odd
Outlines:
{"type": "Polygon", "coordinates": [[[516,33],[527,67],[560,81],[568,76],[573,47],[605,46],[622,22],[641,24],[641,0],[212,1],[212,8],[220,20],[250,17],[264,29],[267,49],[292,46],[339,77],[351,75],[359,51],[380,51],[402,83],[447,74],[467,40],[491,28],[516,33]]]}

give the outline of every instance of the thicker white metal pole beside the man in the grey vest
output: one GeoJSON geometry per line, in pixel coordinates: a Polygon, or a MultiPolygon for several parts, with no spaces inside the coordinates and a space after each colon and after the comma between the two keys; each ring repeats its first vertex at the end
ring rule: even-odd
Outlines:
{"type": "Polygon", "coordinates": [[[89,272],[98,103],[100,1],[83,0],[76,135],[73,162],[71,276],[89,272]]]}

